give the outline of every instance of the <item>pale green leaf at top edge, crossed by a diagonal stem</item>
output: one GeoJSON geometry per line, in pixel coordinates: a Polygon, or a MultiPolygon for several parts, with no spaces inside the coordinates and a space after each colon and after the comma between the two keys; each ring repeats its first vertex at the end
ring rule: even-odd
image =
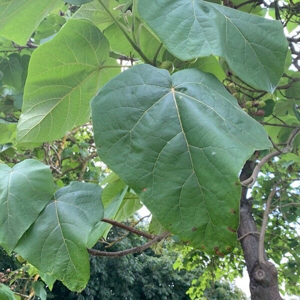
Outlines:
{"type": "MultiPolygon", "coordinates": [[[[114,17],[119,15],[118,9],[113,9],[118,6],[119,3],[115,0],[103,0],[103,3],[107,6],[109,11],[114,17]]],[[[105,29],[113,20],[100,4],[98,0],[93,0],[90,3],[83,4],[72,16],[72,18],[86,19],[94,23],[100,30],[105,29]]]]}

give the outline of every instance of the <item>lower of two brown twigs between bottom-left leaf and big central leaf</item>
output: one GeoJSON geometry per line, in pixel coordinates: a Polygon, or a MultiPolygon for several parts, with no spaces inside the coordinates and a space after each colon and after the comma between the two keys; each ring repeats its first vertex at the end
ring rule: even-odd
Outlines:
{"type": "Polygon", "coordinates": [[[143,245],[133,247],[130,249],[126,249],[126,250],[122,250],[122,251],[117,251],[117,252],[106,252],[106,251],[99,251],[96,249],[87,249],[87,251],[89,254],[91,254],[93,256],[110,256],[110,257],[124,256],[124,255],[132,254],[132,253],[141,252],[141,251],[149,248],[153,244],[165,239],[169,235],[170,235],[169,232],[163,232],[162,234],[155,236],[152,240],[146,242],[143,245]]]}

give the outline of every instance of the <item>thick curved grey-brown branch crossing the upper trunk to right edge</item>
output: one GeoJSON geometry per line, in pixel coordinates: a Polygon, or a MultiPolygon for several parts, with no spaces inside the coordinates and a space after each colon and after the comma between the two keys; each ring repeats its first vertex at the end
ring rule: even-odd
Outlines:
{"type": "Polygon", "coordinates": [[[300,131],[300,126],[294,128],[291,131],[291,133],[290,133],[290,135],[289,135],[289,137],[288,137],[288,139],[286,141],[286,146],[284,148],[280,149],[280,151],[276,150],[276,151],[271,152],[271,153],[265,155],[264,157],[262,157],[261,160],[254,167],[252,175],[249,178],[241,181],[240,182],[241,185],[252,187],[254,185],[254,183],[255,183],[255,181],[257,179],[258,173],[259,173],[259,171],[260,171],[260,169],[261,169],[261,167],[263,166],[264,163],[266,163],[272,157],[275,157],[275,156],[277,156],[279,154],[285,154],[285,153],[290,152],[292,150],[293,140],[296,137],[296,135],[299,133],[299,131],[300,131]]]}

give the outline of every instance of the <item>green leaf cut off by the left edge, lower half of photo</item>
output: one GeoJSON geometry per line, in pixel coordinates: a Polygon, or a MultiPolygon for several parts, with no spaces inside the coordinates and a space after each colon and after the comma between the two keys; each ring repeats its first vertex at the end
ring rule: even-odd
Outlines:
{"type": "Polygon", "coordinates": [[[13,168],[0,164],[0,245],[8,253],[50,201],[53,191],[50,168],[42,162],[26,159],[13,168]]]}

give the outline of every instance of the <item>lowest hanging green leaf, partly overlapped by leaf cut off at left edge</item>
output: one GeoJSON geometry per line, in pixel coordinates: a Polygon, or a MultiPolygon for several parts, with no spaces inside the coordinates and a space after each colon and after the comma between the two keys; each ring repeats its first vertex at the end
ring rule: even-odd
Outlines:
{"type": "Polygon", "coordinates": [[[101,188],[71,182],[57,190],[15,251],[32,265],[81,291],[89,279],[86,243],[91,229],[103,217],[101,188]]]}

